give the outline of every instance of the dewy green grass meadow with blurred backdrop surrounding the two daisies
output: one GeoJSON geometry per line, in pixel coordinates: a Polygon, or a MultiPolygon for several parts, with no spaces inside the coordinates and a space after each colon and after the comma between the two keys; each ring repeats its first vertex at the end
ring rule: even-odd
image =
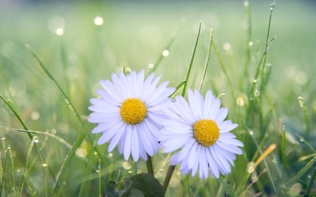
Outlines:
{"type": "MultiPolygon", "coordinates": [[[[154,70],[177,94],[211,89],[239,124],[244,154],[229,175],[176,168],[166,196],[316,196],[315,4],[270,3],[1,6],[0,196],[100,196],[147,172],[96,145],[86,121],[99,80],[123,67],[154,70]],[[50,30],[56,15],[62,36],[50,30]]],[[[162,183],[167,155],[152,162],[162,183]]]]}

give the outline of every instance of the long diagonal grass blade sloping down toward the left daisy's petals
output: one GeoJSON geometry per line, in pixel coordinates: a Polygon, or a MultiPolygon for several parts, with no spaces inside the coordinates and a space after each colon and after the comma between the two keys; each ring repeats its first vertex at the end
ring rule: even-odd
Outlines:
{"type": "Polygon", "coordinates": [[[29,49],[29,51],[31,51],[33,57],[35,58],[35,60],[37,60],[39,66],[41,67],[41,69],[43,69],[43,71],[45,72],[45,74],[48,76],[49,79],[51,79],[55,85],[57,86],[57,88],[60,90],[60,92],[62,93],[62,95],[65,97],[65,100],[67,102],[67,104],[69,104],[70,109],[72,109],[74,111],[74,115],[77,117],[79,123],[81,124],[81,126],[84,124],[81,120],[81,117],[77,111],[77,109],[74,107],[74,104],[72,104],[70,98],[67,96],[67,94],[65,93],[64,90],[62,90],[61,86],[59,85],[58,81],[55,80],[55,78],[53,77],[53,75],[51,74],[51,72],[48,71],[48,69],[45,67],[44,63],[41,62],[41,60],[39,59],[38,55],[34,52],[34,50],[27,45],[27,48],[29,49]]]}

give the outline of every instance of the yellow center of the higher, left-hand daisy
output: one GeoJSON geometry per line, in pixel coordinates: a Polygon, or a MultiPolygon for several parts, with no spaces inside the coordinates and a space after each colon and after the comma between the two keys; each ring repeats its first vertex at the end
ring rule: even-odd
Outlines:
{"type": "Polygon", "coordinates": [[[147,114],[145,103],[138,98],[129,98],[121,103],[121,118],[131,125],[142,122],[147,114]]]}

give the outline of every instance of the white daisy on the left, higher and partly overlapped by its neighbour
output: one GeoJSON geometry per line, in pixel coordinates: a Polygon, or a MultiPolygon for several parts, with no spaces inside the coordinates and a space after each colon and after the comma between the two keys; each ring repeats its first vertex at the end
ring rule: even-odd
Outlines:
{"type": "Polygon", "coordinates": [[[171,104],[169,95],[175,88],[166,88],[169,81],[160,86],[161,76],[154,74],[144,80],[144,71],[130,74],[112,74],[112,82],[101,80],[103,90],[97,90],[100,98],[91,99],[88,107],[93,111],[88,117],[98,123],[92,133],[103,133],[98,144],[110,142],[108,151],[118,147],[125,160],[131,155],[134,161],[147,160],[159,149],[157,134],[165,118],[162,109],[171,104]]]}

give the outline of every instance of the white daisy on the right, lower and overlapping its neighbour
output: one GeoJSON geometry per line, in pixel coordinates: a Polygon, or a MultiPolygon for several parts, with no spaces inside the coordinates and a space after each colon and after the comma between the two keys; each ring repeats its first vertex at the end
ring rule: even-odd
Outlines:
{"type": "Polygon", "coordinates": [[[234,165],[236,154],[242,154],[244,144],[230,133],[237,128],[232,121],[224,121],[227,108],[220,108],[220,100],[211,90],[205,100],[199,90],[188,90],[188,102],[177,96],[169,109],[165,110],[168,119],[161,130],[161,146],[164,152],[180,149],[170,158],[171,165],[180,163],[183,174],[192,172],[199,178],[219,177],[228,174],[234,165]]]}

